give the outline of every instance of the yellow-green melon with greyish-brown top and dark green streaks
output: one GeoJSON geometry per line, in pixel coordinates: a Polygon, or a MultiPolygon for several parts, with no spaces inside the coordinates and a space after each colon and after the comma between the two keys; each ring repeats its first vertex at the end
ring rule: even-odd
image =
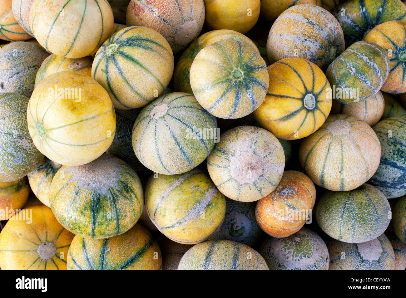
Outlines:
{"type": "Polygon", "coordinates": [[[104,154],[80,166],[63,166],[51,182],[50,204],[58,221],[85,238],[123,234],[143,210],[143,188],[125,162],[104,154]]]}

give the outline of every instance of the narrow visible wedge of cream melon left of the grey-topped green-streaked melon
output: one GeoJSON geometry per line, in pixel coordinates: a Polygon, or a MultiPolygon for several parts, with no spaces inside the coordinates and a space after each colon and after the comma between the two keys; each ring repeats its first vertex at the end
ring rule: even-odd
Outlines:
{"type": "Polygon", "coordinates": [[[59,163],[44,159],[37,169],[28,174],[32,192],[45,206],[50,207],[51,181],[61,166],[59,163]]]}

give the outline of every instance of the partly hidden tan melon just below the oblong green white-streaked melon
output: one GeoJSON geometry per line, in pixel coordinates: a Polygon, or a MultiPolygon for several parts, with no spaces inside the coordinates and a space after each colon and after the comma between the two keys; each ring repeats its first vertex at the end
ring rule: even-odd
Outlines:
{"type": "Polygon", "coordinates": [[[359,103],[343,104],[333,100],[330,113],[346,114],[366,122],[369,126],[374,126],[382,117],[386,107],[384,96],[382,92],[378,91],[376,94],[365,99],[365,101],[359,103]]]}

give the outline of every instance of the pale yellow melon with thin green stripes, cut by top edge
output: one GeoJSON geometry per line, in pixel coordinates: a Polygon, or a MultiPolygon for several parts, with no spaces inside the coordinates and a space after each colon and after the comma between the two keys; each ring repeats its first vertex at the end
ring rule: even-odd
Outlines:
{"type": "Polygon", "coordinates": [[[111,35],[114,19],[106,0],[34,0],[29,22],[45,49],[76,59],[97,51],[111,35]]]}

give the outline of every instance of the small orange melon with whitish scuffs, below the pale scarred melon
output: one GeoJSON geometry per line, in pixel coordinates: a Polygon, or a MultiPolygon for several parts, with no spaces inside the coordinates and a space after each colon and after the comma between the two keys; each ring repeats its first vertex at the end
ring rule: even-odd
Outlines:
{"type": "Polygon", "coordinates": [[[281,238],[300,230],[311,216],[316,189],[309,177],[285,171],[272,193],[257,202],[255,217],[268,235],[281,238]]]}

